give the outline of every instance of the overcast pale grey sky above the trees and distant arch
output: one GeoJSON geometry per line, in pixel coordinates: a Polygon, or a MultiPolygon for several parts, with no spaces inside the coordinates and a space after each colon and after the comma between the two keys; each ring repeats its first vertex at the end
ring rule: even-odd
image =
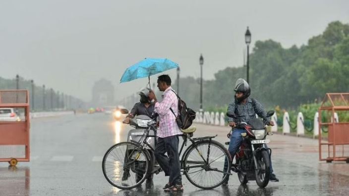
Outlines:
{"type": "Polygon", "coordinates": [[[202,53],[204,79],[213,79],[242,65],[247,26],[252,43],[289,48],[334,20],[349,23],[349,0],[0,0],[0,77],[19,74],[87,101],[105,78],[123,97],[146,85],[119,84],[145,57],[170,58],[181,76],[199,77],[202,53]]]}

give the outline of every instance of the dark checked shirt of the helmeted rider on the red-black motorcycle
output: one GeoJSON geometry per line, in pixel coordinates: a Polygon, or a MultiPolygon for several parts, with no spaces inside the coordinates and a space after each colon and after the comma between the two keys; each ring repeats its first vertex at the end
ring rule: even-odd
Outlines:
{"type": "Polygon", "coordinates": [[[228,112],[233,112],[235,115],[238,117],[238,119],[233,119],[231,117],[228,117],[228,122],[246,122],[251,118],[256,118],[256,114],[263,118],[263,122],[265,124],[268,124],[270,122],[270,119],[267,118],[267,112],[263,109],[263,106],[256,100],[254,99],[255,104],[253,106],[252,99],[247,98],[246,103],[236,103],[235,98],[233,101],[229,104],[228,106],[228,112]]]}

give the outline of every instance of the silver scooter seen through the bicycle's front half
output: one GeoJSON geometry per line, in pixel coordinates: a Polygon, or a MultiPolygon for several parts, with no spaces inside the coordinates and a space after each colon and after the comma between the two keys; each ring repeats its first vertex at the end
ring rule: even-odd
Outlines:
{"type": "MultiPolygon", "coordinates": [[[[121,109],[120,112],[122,114],[127,114],[128,110],[127,109],[121,109]]],[[[131,129],[128,131],[127,134],[127,142],[135,142],[138,143],[141,141],[141,137],[144,134],[144,131],[148,129],[148,123],[150,122],[155,122],[152,118],[146,115],[138,115],[135,116],[134,118],[131,118],[129,122],[122,121],[124,124],[129,124],[131,127],[134,129],[131,129]]],[[[155,149],[155,143],[156,143],[156,132],[154,130],[150,130],[149,136],[146,140],[146,142],[151,146],[153,149],[155,149]]],[[[152,157],[151,160],[151,169],[148,171],[152,171],[155,165],[155,154],[153,153],[152,150],[150,150],[150,147],[146,146],[145,147],[148,151],[149,157],[152,157]]],[[[127,149],[126,153],[130,153],[133,148],[127,149]]],[[[127,155],[125,156],[127,157],[127,155]]],[[[136,182],[140,181],[143,178],[143,175],[145,175],[146,171],[146,157],[141,157],[138,158],[137,161],[133,163],[133,165],[130,167],[132,172],[136,173],[136,182]]],[[[147,180],[151,181],[153,179],[153,173],[149,174],[147,180]]],[[[127,172],[124,173],[124,176],[122,177],[122,180],[127,179],[129,176],[127,176],[127,172]],[[125,176],[126,175],[126,176],[125,176]]]]}

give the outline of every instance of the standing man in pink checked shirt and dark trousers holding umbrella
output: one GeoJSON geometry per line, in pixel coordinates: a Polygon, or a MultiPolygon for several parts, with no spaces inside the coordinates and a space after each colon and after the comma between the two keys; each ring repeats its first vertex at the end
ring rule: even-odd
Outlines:
{"type": "Polygon", "coordinates": [[[165,185],[164,190],[183,191],[178,152],[178,135],[182,133],[175,122],[175,118],[178,115],[178,98],[171,87],[171,78],[169,75],[159,76],[158,88],[164,92],[161,102],[158,102],[154,92],[149,94],[149,98],[155,103],[154,111],[159,114],[160,120],[157,131],[159,138],[155,148],[155,157],[164,170],[165,176],[169,176],[169,183],[165,185]],[[167,156],[165,155],[166,152],[167,156]]]}

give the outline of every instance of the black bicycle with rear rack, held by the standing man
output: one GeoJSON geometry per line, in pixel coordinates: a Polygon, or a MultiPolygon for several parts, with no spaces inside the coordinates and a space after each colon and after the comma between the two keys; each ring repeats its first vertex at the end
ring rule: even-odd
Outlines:
{"type": "MultiPolygon", "coordinates": [[[[107,181],[119,189],[133,189],[141,185],[152,174],[151,162],[154,161],[154,148],[147,143],[150,130],[156,131],[156,122],[149,121],[148,128],[144,129],[139,141],[121,142],[110,147],[102,161],[102,170],[107,181]],[[146,148],[147,147],[147,148],[146,148]],[[151,154],[152,153],[152,154],[151,154]],[[145,174],[138,176],[137,174],[145,174]]],[[[229,175],[224,170],[225,160],[231,160],[228,150],[219,142],[212,140],[216,136],[191,138],[196,128],[183,130],[180,135],[183,143],[179,156],[188,140],[191,145],[187,147],[180,160],[181,175],[201,189],[213,189],[220,186],[229,175]]],[[[231,161],[228,161],[228,168],[231,161]]]]}

